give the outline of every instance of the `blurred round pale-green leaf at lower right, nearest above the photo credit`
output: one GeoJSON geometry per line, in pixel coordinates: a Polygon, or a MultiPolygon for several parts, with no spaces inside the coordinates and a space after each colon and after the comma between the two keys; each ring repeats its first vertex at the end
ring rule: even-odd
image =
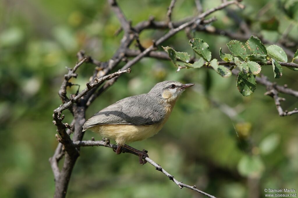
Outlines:
{"type": "Polygon", "coordinates": [[[243,156],[238,163],[238,171],[244,177],[260,177],[264,164],[258,156],[243,156]]]}

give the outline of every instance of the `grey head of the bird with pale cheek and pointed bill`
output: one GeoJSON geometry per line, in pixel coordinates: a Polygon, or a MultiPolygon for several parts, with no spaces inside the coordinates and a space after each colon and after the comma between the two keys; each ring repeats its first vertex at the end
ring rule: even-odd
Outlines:
{"type": "Polygon", "coordinates": [[[167,102],[176,101],[176,99],[181,95],[181,93],[188,87],[195,84],[182,84],[177,81],[164,81],[157,83],[149,92],[160,99],[164,99],[167,102]]]}

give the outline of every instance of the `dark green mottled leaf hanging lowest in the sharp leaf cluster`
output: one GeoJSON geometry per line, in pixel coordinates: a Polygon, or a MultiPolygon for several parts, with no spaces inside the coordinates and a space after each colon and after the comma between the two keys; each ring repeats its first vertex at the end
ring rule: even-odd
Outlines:
{"type": "Polygon", "coordinates": [[[249,96],[256,89],[256,79],[253,74],[238,73],[237,88],[243,96],[249,96]]]}

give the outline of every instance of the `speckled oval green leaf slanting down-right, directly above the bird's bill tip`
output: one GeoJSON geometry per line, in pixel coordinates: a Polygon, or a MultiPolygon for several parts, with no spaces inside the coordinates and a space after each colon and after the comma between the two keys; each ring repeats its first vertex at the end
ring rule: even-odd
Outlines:
{"type": "Polygon", "coordinates": [[[210,51],[209,45],[205,43],[202,39],[200,38],[190,39],[189,44],[193,48],[195,53],[197,53],[199,56],[204,58],[204,60],[208,62],[211,60],[211,51],[210,51]]]}

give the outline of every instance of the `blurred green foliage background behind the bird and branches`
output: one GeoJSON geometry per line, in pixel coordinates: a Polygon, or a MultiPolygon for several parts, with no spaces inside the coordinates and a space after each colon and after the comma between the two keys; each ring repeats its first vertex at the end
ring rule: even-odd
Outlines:
{"type": "MultiPolygon", "coordinates": [[[[202,5],[206,10],[220,2],[202,1],[202,5]]],[[[133,25],[151,15],[165,20],[169,4],[169,0],[119,1],[133,25]]],[[[298,42],[297,1],[245,0],[243,4],[243,11],[233,6],[229,9],[246,20],[252,32],[277,43],[291,25],[288,39],[298,42]]],[[[173,20],[195,14],[194,1],[177,0],[173,20]]],[[[225,10],[212,16],[218,21],[209,28],[239,31],[239,25],[225,10]]],[[[108,60],[123,33],[114,36],[119,22],[106,1],[3,0],[0,21],[0,197],[52,197],[54,177],[48,159],[57,145],[52,111],[60,105],[58,89],[66,67],[74,66],[80,49],[97,60],[108,60]]],[[[141,43],[148,47],[163,33],[144,31],[141,43]]],[[[219,59],[220,47],[228,52],[228,37],[205,32],[193,36],[209,43],[212,57],[219,59]]],[[[163,46],[193,54],[185,32],[163,46]]],[[[295,46],[290,48],[293,52],[295,46]]],[[[93,69],[93,65],[84,64],[72,82],[80,84],[82,90],[93,69]]],[[[207,69],[175,71],[169,61],[142,59],[131,74],[123,74],[91,105],[87,117],[119,99],[148,92],[163,80],[195,83],[181,96],[159,134],[131,146],[149,150],[150,158],[176,179],[217,197],[264,197],[264,188],[298,191],[297,115],[279,117],[274,101],[264,96],[266,89],[261,85],[244,97],[236,88],[234,76],[222,78],[207,69]]],[[[284,68],[281,79],[274,79],[270,66],[263,66],[261,73],[278,84],[298,89],[297,73],[292,70],[284,68]]],[[[285,98],[284,109],[298,107],[297,98],[285,98]]],[[[70,113],[64,114],[70,123],[70,113]]],[[[84,139],[91,137],[101,139],[91,131],[84,139]]],[[[115,155],[105,147],[84,147],[67,197],[202,195],[179,189],[150,164],[140,166],[134,155],[115,155]]]]}

